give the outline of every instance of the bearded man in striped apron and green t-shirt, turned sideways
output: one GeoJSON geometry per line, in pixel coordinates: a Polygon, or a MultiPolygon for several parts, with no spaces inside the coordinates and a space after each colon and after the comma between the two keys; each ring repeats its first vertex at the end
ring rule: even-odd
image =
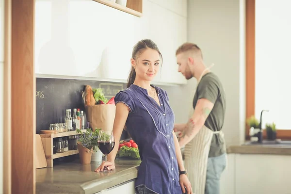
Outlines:
{"type": "Polygon", "coordinates": [[[187,124],[175,124],[179,145],[185,146],[184,162],[195,194],[219,194],[220,177],[226,168],[226,145],[221,131],[226,95],[218,77],[204,65],[197,45],[185,43],[176,52],[178,71],[196,78],[193,111],[187,124]]]}

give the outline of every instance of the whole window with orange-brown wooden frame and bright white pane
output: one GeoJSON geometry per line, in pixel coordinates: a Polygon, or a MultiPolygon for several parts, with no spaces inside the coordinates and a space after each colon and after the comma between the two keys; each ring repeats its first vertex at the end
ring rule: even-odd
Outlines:
{"type": "Polygon", "coordinates": [[[290,7],[289,0],[246,0],[246,116],[269,110],[262,127],[275,122],[282,139],[291,139],[290,7]]]}

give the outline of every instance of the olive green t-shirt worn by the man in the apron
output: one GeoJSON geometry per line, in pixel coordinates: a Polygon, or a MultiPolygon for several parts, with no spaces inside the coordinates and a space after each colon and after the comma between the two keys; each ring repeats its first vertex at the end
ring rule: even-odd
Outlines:
{"type": "MultiPolygon", "coordinates": [[[[226,95],[222,83],[212,72],[205,74],[200,80],[193,99],[193,107],[198,99],[206,98],[214,104],[205,126],[213,131],[221,130],[226,112],[226,95]]],[[[226,153],[224,138],[220,134],[213,134],[209,157],[216,157],[226,153]]]]}

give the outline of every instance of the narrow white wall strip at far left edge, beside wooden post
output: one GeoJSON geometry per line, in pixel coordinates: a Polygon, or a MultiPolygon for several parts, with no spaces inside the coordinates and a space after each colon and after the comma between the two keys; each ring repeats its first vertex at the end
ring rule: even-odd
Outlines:
{"type": "Polygon", "coordinates": [[[3,82],[4,82],[4,0],[0,0],[0,193],[3,191],[3,82]]]}

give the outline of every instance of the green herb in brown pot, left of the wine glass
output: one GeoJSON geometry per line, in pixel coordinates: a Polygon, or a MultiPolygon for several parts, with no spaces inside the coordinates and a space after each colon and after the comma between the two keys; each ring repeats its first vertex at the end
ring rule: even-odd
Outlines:
{"type": "Polygon", "coordinates": [[[78,150],[80,161],[82,164],[91,163],[91,157],[93,153],[93,131],[88,128],[86,132],[82,132],[80,129],[77,129],[77,133],[80,133],[80,137],[78,138],[78,150]]]}

